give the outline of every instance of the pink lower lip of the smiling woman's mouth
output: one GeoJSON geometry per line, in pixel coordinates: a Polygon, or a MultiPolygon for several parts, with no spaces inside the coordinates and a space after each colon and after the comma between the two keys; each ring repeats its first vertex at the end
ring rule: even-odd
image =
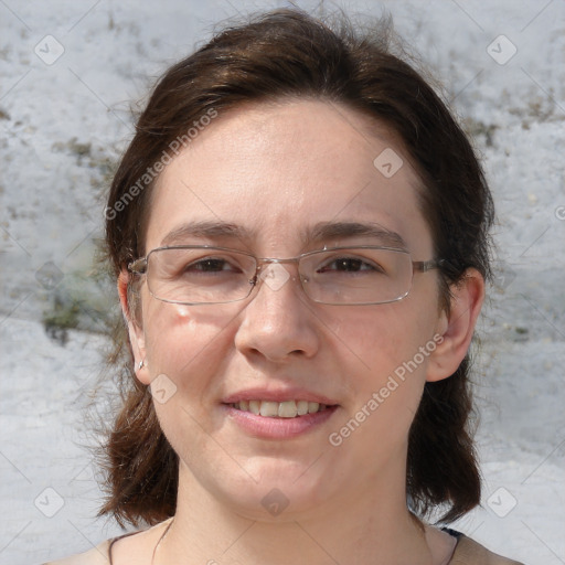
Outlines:
{"type": "Polygon", "coordinates": [[[330,406],[322,412],[305,414],[296,418],[269,418],[258,416],[252,412],[238,411],[227,404],[224,404],[223,407],[227,412],[228,417],[254,437],[262,439],[289,439],[322,425],[331,418],[339,406],[330,406]]]}

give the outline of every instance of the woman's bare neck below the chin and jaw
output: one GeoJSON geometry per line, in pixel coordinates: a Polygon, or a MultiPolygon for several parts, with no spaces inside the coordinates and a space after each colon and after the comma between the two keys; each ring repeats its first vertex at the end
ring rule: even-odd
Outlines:
{"type": "Polygon", "coordinates": [[[218,502],[182,463],[179,479],[175,518],[156,565],[286,565],[305,558],[309,565],[431,565],[435,561],[425,529],[406,508],[404,486],[395,491],[381,480],[381,489],[351,490],[300,513],[291,513],[289,505],[267,520],[218,502]]]}

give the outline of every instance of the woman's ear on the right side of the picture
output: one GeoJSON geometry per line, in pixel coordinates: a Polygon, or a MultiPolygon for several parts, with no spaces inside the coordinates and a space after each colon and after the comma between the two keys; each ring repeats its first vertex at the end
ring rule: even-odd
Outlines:
{"type": "Polygon", "coordinates": [[[439,318],[437,348],[429,358],[426,380],[451,376],[465,359],[484,300],[484,278],[477,269],[467,269],[462,279],[450,287],[450,311],[439,318]]]}

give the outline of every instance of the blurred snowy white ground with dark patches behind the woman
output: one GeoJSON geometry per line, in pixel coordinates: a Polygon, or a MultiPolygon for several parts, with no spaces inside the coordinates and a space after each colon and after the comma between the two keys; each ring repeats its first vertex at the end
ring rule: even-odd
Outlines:
{"type": "MultiPolygon", "coordinates": [[[[0,0],[0,564],[118,533],[94,520],[99,491],[76,444],[104,344],[97,194],[131,135],[129,102],[214,22],[286,4],[0,0]],[[42,320],[70,296],[83,330],[63,344],[42,320]]],[[[456,526],[527,564],[565,563],[565,3],[339,6],[393,13],[476,134],[498,204],[477,379],[484,500],[456,526]]]]}

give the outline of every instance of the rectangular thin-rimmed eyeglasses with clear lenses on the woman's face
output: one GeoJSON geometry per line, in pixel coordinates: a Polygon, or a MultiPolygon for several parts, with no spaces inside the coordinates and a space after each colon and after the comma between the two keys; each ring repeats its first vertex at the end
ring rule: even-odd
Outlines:
{"type": "Polygon", "coordinates": [[[225,247],[158,247],[128,265],[147,276],[151,295],[178,305],[220,305],[245,300],[264,280],[278,290],[290,278],[285,263],[297,263],[300,284],[315,302],[380,305],[406,297],[414,271],[438,268],[440,262],[413,262],[392,247],[333,247],[288,259],[257,258],[225,247]]]}

